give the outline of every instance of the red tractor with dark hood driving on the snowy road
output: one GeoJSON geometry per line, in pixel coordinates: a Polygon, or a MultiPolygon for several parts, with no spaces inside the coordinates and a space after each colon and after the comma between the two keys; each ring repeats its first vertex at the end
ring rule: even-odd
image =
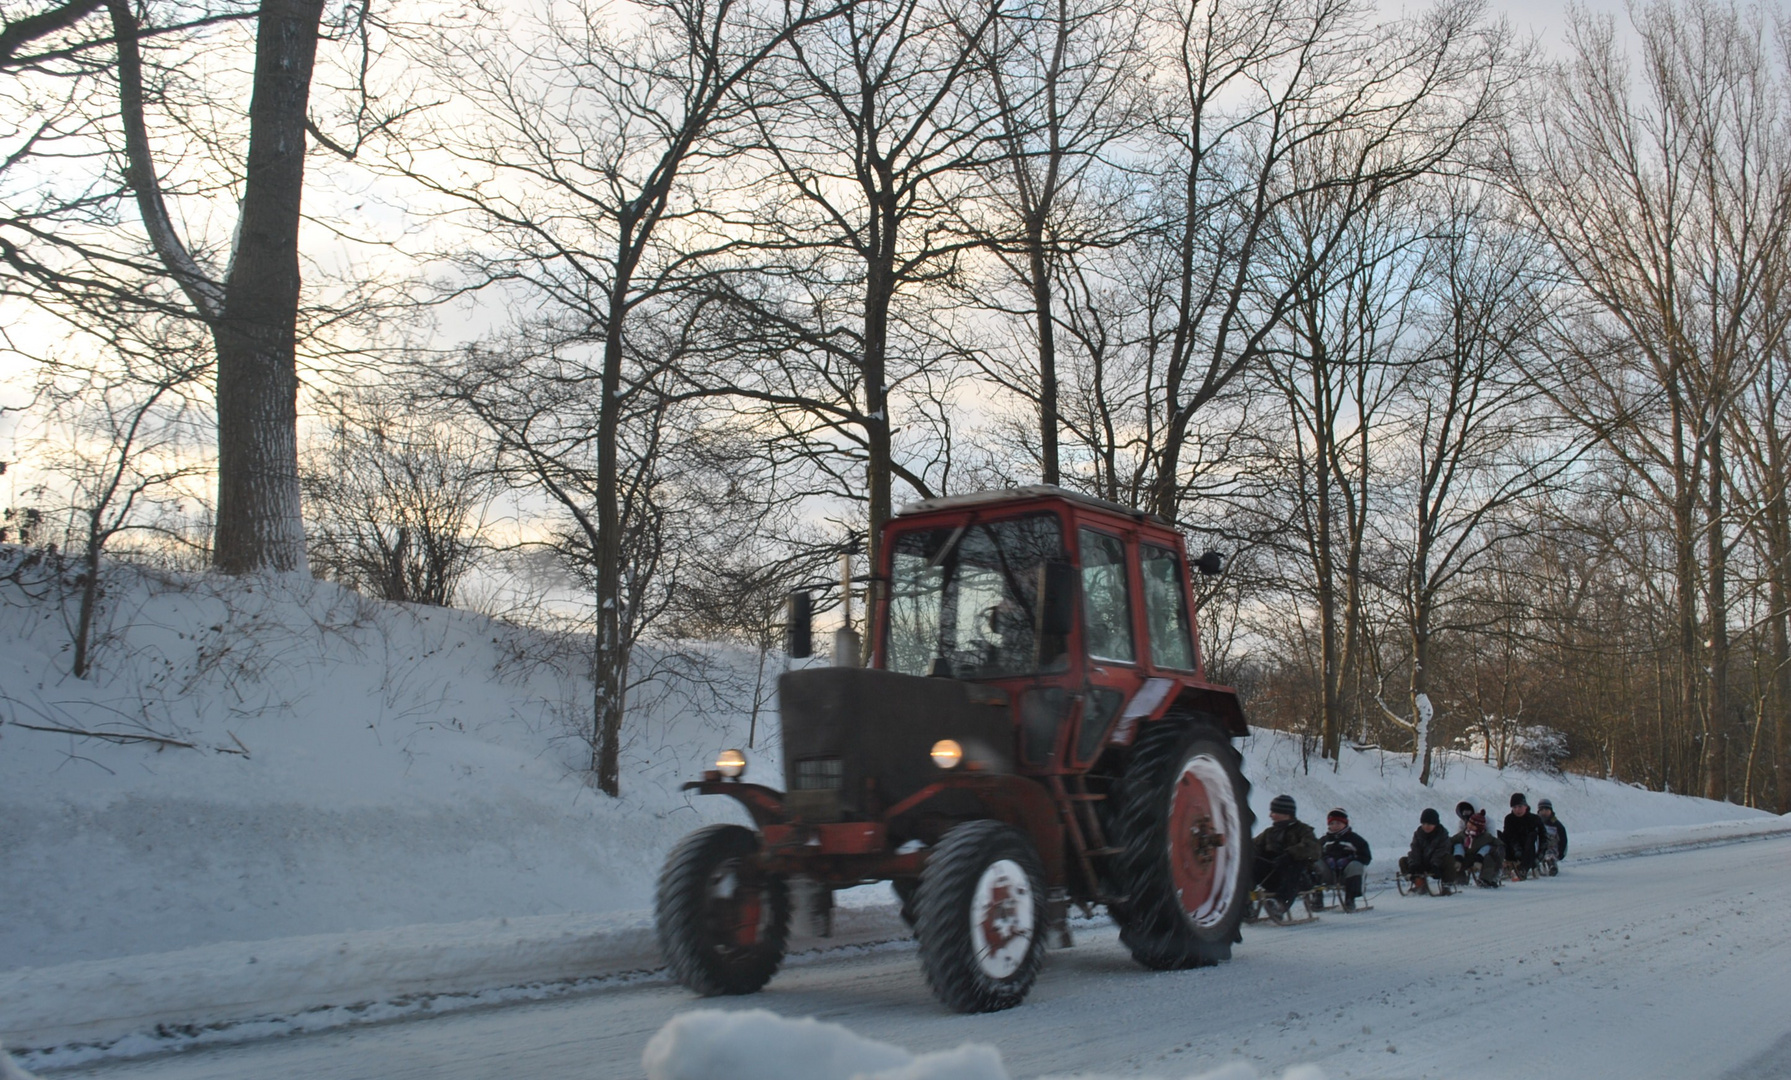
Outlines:
{"type": "Polygon", "coordinates": [[[1057,487],[937,498],[885,527],[874,580],[870,666],[779,681],[783,790],[741,781],[738,750],[684,784],[738,799],[756,827],[698,829],[666,860],[656,919],[679,981],[761,989],[792,878],[824,906],[890,881],[960,1012],[1019,1005],[1071,904],[1105,904],[1146,967],[1227,960],[1250,894],[1232,745],[1248,729],[1205,681],[1182,537],[1057,487]]]}

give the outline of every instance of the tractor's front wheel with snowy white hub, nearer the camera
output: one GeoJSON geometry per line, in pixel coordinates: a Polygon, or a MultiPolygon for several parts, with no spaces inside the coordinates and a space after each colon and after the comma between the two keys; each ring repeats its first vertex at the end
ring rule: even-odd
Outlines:
{"type": "Polygon", "coordinates": [[[1044,962],[1044,869],[1017,829],[965,822],[938,842],[913,896],[926,983],[958,1012],[1026,999],[1044,962]]]}

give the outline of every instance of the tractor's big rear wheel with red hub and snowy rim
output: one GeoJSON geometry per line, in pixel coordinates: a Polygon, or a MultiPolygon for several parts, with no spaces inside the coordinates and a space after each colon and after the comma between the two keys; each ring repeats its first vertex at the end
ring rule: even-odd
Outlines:
{"type": "Polygon", "coordinates": [[[1127,896],[1119,940],[1157,971],[1230,960],[1255,870],[1250,783],[1223,731],[1195,716],[1144,727],[1118,784],[1112,842],[1127,896]]]}

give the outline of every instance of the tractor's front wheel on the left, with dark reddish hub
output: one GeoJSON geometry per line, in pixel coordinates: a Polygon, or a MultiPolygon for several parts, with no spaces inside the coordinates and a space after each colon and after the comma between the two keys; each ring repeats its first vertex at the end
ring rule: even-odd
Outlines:
{"type": "Polygon", "coordinates": [[[659,872],[654,926],[672,976],[702,994],[752,994],[783,964],[790,888],[759,874],[759,840],[741,826],[707,826],[679,842],[659,872]]]}

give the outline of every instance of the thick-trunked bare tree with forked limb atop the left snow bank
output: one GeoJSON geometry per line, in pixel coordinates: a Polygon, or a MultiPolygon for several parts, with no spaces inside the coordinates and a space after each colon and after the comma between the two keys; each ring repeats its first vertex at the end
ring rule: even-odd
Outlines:
{"type": "Polygon", "coordinates": [[[77,0],[4,32],[0,68],[29,100],[5,154],[5,174],[20,181],[0,217],[7,288],[50,312],[111,304],[206,330],[217,396],[211,555],[227,573],[304,570],[306,133],[337,145],[308,122],[312,73],[326,34],[365,39],[367,23],[365,5],[326,18],[322,0],[77,0]],[[240,23],[254,23],[253,38],[240,23]],[[251,43],[236,64],[247,77],[236,79],[220,57],[251,43]],[[220,219],[233,220],[208,231],[220,219]]]}

